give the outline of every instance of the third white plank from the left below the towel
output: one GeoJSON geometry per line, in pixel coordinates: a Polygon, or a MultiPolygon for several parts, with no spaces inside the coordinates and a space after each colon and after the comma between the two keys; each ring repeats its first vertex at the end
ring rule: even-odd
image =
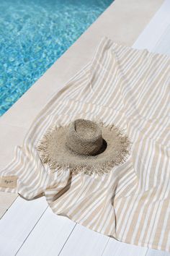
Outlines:
{"type": "Polygon", "coordinates": [[[108,236],[77,224],[63,247],[60,256],[99,256],[102,255],[108,240],[108,236]]]}

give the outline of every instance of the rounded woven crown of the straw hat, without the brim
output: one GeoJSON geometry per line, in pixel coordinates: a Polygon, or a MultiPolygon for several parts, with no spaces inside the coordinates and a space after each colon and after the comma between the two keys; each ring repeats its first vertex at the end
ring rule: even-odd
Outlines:
{"type": "Polygon", "coordinates": [[[95,155],[102,148],[102,129],[85,119],[71,122],[66,134],[66,145],[78,155],[95,155]]]}

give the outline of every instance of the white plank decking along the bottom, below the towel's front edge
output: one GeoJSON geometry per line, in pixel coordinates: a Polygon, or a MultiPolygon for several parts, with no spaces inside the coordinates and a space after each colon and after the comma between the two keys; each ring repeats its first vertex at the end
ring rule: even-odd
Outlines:
{"type": "Polygon", "coordinates": [[[52,213],[45,197],[13,202],[0,221],[1,256],[169,256],[118,242],[52,213]]]}

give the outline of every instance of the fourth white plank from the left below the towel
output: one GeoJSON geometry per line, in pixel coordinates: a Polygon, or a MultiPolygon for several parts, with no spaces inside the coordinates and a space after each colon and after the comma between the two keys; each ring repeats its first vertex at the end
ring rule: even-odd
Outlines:
{"type": "Polygon", "coordinates": [[[102,256],[146,256],[148,248],[109,239],[102,256]]]}

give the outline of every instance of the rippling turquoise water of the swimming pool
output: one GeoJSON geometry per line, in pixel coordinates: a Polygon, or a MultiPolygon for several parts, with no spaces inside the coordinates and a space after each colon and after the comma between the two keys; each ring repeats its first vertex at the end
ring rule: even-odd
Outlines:
{"type": "Polygon", "coordinates": [[[113,0],[0,0],[0,115],[113,0]]]}

